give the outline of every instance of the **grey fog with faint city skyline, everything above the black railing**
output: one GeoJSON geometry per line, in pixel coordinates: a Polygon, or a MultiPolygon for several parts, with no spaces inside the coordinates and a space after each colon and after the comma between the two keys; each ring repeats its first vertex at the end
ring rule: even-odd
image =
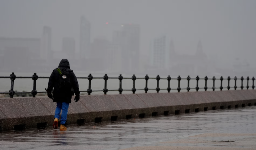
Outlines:
{"type": "Polygon", "coordinates": [[[255,76],[255,0],[0,0],[2,76],[255,76]],[[40,74],[39,74],[40,76],[40,74]]]}

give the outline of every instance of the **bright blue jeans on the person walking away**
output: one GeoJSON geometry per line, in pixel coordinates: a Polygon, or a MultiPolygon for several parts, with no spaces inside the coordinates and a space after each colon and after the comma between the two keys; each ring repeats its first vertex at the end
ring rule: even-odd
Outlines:
{"type": "Polygon", "coordinates": [[[55,110],[54,118],[59,119],[59,115],[60,115],[60,112],[61,112],[61,109],[62,109],[60,124],[65,124],[66,121],[67,121],[68,106],[69,106],[69,103],[57,102],[57,107],[56,107],[56,110],[55,110]]]}

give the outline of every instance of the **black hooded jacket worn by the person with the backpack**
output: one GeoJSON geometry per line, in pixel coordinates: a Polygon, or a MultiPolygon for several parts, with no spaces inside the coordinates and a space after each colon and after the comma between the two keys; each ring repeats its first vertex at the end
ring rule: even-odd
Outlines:
{"type": "MultiPolygon", "coordinates": [[[[79,91],[78,82],[77,82],[74,72],[69,67],[68,60],[62,59],[59,63],[58,68],[60,69],[61,72],[64,72],[65,69],[67,70],[67,72],[69,73],[72,88],[74,89],[75,94],[79,95],[80,91],[79,91]]],[[[48,91],[53,90],[54,102],[59,101],[59,102],[71,103],[71,98],[72,98],[71,89],[70,89],[70,92],[65,92],[65,91],[62,91],[58,86],[58,82],[60,80],[59,72],[57,71],[58,68],[54,69],[53,72],[51,73],[51,76],[50,76],[49,82],[48,82],[48,91]]]]}

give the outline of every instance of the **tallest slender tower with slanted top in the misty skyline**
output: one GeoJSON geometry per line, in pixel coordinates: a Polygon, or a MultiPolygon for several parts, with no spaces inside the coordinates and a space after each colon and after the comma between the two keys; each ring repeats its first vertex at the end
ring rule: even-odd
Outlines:
{"type": "Polygon", "coordinates": [[[90,34],[91,34],[91,24],[84,17],[80,20],[80,58],[88,59],[90,58],[90,34]]]}

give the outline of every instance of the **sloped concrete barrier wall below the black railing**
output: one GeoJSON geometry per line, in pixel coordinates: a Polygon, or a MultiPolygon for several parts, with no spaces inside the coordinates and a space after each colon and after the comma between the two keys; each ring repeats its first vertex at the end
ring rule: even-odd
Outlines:
{"type": "MultiPolygon", "coordinates": [[[[115,121],[256,105],[256,90],[81,95],[69,106],[67,124],[115,121]]],[[[52,125],[56,103],[48,97],[0,98],[0,130],[52,125]]]]}

